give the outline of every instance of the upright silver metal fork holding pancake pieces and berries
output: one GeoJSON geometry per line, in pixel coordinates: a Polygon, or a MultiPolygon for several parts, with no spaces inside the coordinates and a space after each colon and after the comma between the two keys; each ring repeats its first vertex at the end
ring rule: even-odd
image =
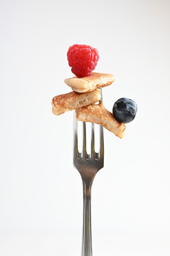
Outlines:
{"type": "MultiPolygon", "coordinates": [[[[101,89],[102,94],[102,89],[101,89]]],[[[102,99],[101,99],[102,100],[102,99]]],[[[79,122],[79,121],[78,121],[79,122]]],[[[81,256],[92,256],[91,189],[96,173],[104,166],[103,126],[99,126],[99,152],[95,152],[95,124],[91,123],[91,153],[86,150],[86,122],[82,122],[82,152],[78,150],[77,119],[73,117],[73,166],[83,182],[83,229],[81,256]]]]}

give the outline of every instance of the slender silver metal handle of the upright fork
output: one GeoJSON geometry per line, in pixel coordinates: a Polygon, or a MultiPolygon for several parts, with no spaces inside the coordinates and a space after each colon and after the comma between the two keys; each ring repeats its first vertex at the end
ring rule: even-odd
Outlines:
{"type": "Polygon", "coordinates": [[[91,237],[91,189],[93,180],[83,181],[83,231],[82,231],[82,254],[81,256],[92,256],[91,237]]]}

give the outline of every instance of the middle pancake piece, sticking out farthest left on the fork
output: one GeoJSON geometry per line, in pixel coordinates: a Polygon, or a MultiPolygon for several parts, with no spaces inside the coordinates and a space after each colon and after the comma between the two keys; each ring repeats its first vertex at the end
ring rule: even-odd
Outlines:
{"type": "Polygon", "coordinates": [[[100,89],[85,93],[68,92],[66,94],[57,95],[51,102],[52,112],[54,115],[58,116],[64,112],[95,103],[99,101],[101,97],[100,89]]]}

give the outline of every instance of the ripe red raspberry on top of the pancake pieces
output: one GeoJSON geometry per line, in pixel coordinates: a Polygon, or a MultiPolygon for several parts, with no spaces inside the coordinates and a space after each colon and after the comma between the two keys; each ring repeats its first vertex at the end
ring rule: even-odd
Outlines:
{"type": "Polygon", "coordinates": [[[97,49],[89,45],[73,45],[67,52],[68,64],[77,77],[91,76],[95,69],[99,54],[97,49]]]}

